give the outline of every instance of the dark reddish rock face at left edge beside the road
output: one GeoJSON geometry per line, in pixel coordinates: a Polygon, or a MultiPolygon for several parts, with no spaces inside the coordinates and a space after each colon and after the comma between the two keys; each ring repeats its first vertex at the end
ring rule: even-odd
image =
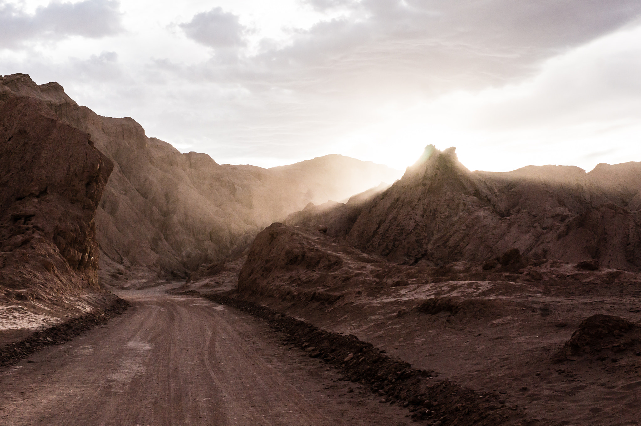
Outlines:
{"type": "Polygon", "coordinates": [[[28,300],[98,290],[94,215],[113,165],[33,97],[0,98],[0,288],[28,300]]]}

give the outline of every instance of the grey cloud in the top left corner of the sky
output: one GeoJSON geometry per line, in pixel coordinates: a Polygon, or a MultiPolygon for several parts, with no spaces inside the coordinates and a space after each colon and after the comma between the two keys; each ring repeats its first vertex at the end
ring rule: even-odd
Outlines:
{"type": "Polygon", "coordinates": [[[122,31],[119,2],[85,0],[49,3],[35,13],[0,1],[0,47],[19,47],[29,41],[60,40],[69,36],[101,38],[122,31]]]}

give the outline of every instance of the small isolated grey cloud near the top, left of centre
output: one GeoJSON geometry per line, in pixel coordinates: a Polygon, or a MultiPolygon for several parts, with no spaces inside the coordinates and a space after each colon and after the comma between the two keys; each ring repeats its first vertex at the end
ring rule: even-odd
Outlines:
{"type": "Polygon", "coordinates": [[[233,13],[222,8],[194,15],[190,22],[179,24],[187,37],[209,47],[240,47],[246,44],[243,35],[246,28],[233,13]]]}

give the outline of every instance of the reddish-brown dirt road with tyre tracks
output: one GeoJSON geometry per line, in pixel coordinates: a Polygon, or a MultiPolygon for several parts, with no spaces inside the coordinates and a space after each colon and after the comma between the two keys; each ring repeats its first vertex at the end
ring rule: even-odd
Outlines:
{"type": "Polygon", "coordinates": [[[121,291],[124,315],[1,369],[0,424],[408,423],[406,410],[279,346],[261,320],[164,290],[121,291]]]}

